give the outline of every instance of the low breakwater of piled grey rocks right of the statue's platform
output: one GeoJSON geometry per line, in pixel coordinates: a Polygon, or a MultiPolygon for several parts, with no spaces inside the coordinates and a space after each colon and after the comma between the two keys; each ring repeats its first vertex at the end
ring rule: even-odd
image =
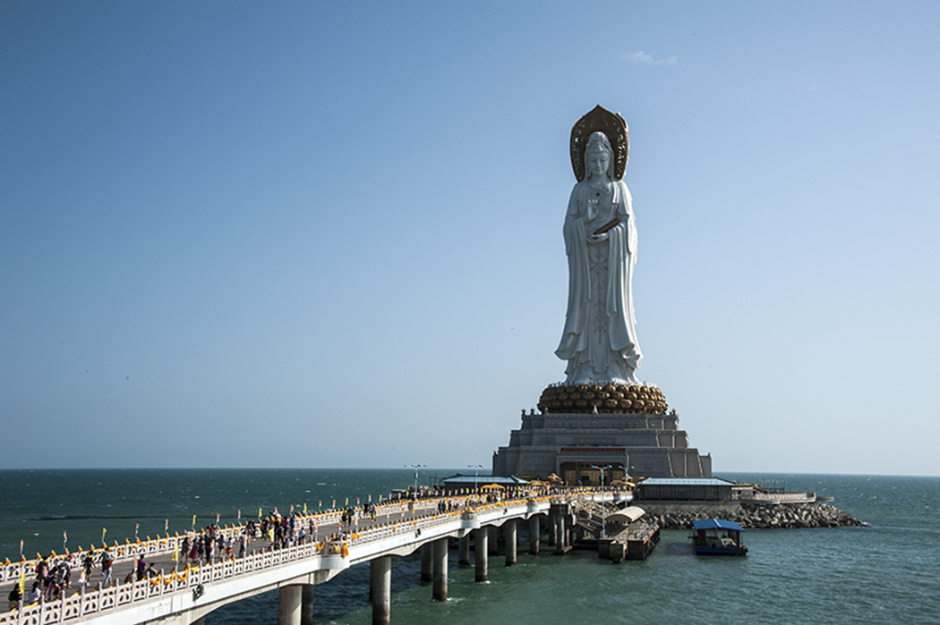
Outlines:
{"type": "Polygon", "coordinates": [[[780,506],[733,504],[647,504],[636,505],[657,519],[664,529],[690,529],[697,519],[726,519],[746,529],[784,529],[795,527],[864,526],[848,512],[823,503],[800,503],[780,506]]]}

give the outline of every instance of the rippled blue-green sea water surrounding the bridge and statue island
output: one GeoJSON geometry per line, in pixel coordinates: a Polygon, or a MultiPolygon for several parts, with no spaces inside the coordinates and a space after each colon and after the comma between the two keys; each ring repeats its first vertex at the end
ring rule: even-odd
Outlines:
{"type": "MultiPolygon", "coordinates": [[[[427,484],[452,472],[426,469],[427,484]]],[[[431,601],[415,556],[392,565],[399,623],[938,623],[940,478],[725,473],[736,481],[786,481],[788,490],[834,496],[864,527],[750,530],[745,557],[694,556],[688,532],[664,531],[650,559],[613,564],[596,552],[554,556],[542,544],[518,564],[491,556],[490,582],[449,562],[446,603],[431,601]]],[[[317,510],[414,483],[410,469],[129,469],[0,471],[0,557],[133,541],[215,522],[317,510]]],[[[778,485],[778,484],[777,484],[778,485]]],[[[316,587],[315,619],[366,624],[368,564],[316,587]]],[[[229,604],[207,625],[277,621],[277,592],[229,604]]]]}

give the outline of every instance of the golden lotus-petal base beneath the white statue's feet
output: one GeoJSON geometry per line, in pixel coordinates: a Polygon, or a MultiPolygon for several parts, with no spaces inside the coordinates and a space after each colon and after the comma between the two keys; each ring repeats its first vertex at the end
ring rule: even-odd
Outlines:
{"type": "Polygon", "coordinates": [[[553,386],[541,391],[543,413],[599,413],[661,415],[668,408],[663,391],[638,384],[581,384],[553,386]]]}

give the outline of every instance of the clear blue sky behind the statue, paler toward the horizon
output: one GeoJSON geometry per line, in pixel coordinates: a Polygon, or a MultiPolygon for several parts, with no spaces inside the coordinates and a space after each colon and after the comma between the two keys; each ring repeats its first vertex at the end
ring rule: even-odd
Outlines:
{"type": "Polygon", "coordinates": [[[572,124],[716,473],[940,475],[940,5],[0,4],[0,467],[490,465],[572,124]]]}

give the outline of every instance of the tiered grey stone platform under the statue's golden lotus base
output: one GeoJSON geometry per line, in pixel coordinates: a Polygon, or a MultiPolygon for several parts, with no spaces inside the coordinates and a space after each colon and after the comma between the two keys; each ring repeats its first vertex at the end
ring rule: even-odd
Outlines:
{"type": "MultiPolygon", "coordinates": [[[[657,406],[658,407],[658,406],[657,406]]],[[[632,476],[710,478],[712,456],[689,447],[675,410],[667,414],[542,412],[523,414],[522,427],[509,434],[509,445],[493,453],[493,475],[535,476],[555,473],[566,484],[600,485],[592,466],[611,465],[605,483],[632,476]]]]}

